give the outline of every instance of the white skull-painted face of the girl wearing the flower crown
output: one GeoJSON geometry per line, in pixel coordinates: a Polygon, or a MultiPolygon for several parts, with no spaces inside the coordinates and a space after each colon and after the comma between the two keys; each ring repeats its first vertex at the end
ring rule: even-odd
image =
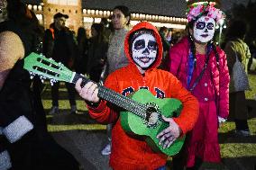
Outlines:
{"type": "Polygon", "coordinates": [[[206,43],[214,38],[215,20],[207,16],[201,16],[193,27],[195,40],[206,43]]]}

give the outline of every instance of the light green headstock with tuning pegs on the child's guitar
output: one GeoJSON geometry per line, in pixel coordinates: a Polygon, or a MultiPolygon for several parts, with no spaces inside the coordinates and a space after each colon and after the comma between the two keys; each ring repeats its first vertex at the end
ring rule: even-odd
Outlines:
{"type": "Polygon", "coordinates": [[[50,84],[57,81],[71,82],[73,78],[73,72],[63,64],[33,52],[24,58],[23,68],[28,70],[31,76],[39,75],[41,80],[50,79],[50,84]]]}

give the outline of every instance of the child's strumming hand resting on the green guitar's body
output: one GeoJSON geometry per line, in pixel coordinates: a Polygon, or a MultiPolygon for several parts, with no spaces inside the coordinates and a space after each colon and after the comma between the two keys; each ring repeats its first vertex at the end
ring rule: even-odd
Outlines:
{"type": "Polygon", "coordinates": [[[157,135],[157,139],[160,140],[160,145],[162,145],[163,148],[169,148],[169,146],[181,135],[182,130],[180,130],[178,124],[173,121],[172,118],[166,118],[162,115],[162,119],[169,122],[169,127],[162,130],[157,135]]]}

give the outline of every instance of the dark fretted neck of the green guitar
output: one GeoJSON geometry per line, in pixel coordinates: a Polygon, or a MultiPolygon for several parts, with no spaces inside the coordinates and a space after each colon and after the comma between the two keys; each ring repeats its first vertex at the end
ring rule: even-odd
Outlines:
{"type": "MultiPolygon", "coordinates": [[[[75,73],[74,78],[72,79],[72,83],[76,84],[79,78],[82,78],[82,86],[86,85],[88,82],[92,81],[85,76],[78,75],[75,73]]],[[[98,96],[104,99],[107,102],[114,103],[118,107],[121,107],[129,112],[133,112],[137,116],[146,118],[146,107],[142,103],[138,103],[133,101],[133,99],[123,96],[122,94],[118,94],[113,90],[106,88],[103,85],[98,85],[98,96]]]]}

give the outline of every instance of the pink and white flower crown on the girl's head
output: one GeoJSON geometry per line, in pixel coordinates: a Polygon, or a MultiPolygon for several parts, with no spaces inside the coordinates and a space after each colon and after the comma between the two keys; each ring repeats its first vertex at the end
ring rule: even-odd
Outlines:
{"type": "Polygon", "coordinates": [[[225,14],[215,8],[214,4],[194,4],[187,9],[187,20],[191,22],[199,18],[203,13],[206,13],[208,17],[213,18],[217,23],[225,18],[225,14]]]}

